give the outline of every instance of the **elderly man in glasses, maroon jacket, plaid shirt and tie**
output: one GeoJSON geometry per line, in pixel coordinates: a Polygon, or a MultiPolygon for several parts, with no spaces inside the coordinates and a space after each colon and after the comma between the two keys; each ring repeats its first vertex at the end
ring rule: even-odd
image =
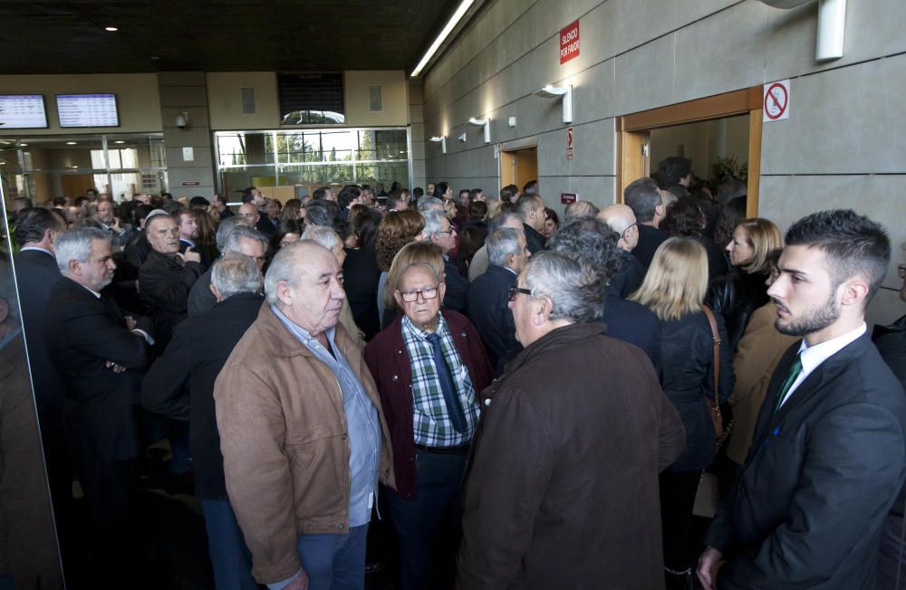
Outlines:
{"type": "Polygon", "coordinates": [[[400,540],[402,587],[446,588],[477,399],[493,374],[476,329],[456,311],[440,311],[446,285],[434,268],[412,264],[393,287],[404,315],[365,348],[393,445],[390,522],[400,540]]]}

